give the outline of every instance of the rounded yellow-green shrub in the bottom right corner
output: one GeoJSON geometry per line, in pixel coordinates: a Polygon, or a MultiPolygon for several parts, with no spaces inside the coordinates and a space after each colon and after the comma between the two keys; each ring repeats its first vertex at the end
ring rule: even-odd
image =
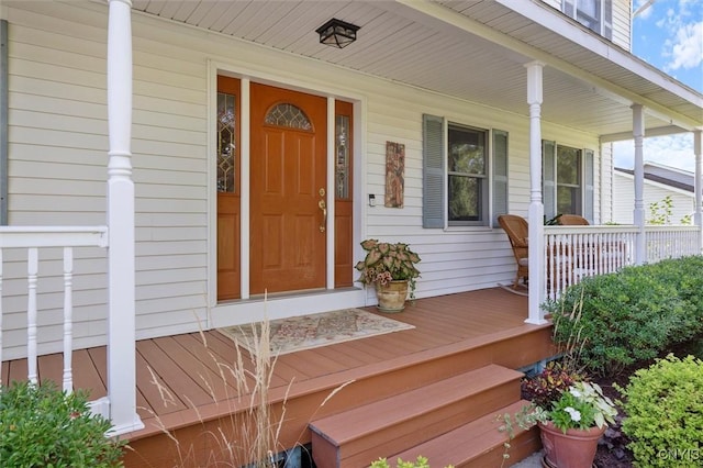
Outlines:
{"type": "Polygon", "coordinates": [[[623,432],[636,466],[703,465],[703,361],[669,355],[639,369],[626,389],[623,432]]]}

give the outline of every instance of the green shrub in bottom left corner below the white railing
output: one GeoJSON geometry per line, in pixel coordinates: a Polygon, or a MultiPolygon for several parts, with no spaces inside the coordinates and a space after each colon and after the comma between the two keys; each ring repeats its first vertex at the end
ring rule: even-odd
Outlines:
{"type": "Polygon", "coordinates": [[[83,393],[13,382],[0,388],[0,466],[120,467],[124,443],[104,436],[110,426],[83,393]]]}

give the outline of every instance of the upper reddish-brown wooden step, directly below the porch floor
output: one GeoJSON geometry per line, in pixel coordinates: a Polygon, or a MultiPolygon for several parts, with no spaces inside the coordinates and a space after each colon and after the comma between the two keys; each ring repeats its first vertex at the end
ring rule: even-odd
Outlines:
{"type": "Polygon", "coordinates": [[[446,378],[310,424],[317,468],[367,467],[520,400],[523,375],[498,365],[446,378]]]}

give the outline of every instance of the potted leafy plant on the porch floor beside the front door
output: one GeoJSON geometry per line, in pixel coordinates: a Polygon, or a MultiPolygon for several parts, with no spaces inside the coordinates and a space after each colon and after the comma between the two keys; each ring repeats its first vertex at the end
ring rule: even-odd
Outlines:
{"type": "Polygon", "coordinates": [[[402,311],[409,290],[411,298],[414,297],[415,278],[420,277],[415,264],[420,256],[400,242],[391,244],[369,238],[361,242],[361,247],[366,250],[366,258],[356,264],[361,274],[357,281],[375,285],[379,310],[402,311]]]}

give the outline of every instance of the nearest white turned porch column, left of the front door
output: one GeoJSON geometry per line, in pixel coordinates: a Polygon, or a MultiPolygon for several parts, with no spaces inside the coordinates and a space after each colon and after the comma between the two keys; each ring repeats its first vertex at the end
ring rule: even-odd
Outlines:
{"type": "Polygon", "coordinates": [[[136,414],[132,1],[110,0],[108,22],[108,398],[112,432],[144,427],[136,414]]]}

